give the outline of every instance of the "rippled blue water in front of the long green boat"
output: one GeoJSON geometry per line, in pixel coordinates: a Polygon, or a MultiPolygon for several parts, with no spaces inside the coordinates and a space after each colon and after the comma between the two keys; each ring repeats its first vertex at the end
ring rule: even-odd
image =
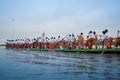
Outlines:
{"type": "Polygon", "coordinates": [[[120,80],[120,55],[0,47],[0,80],[120,80]]]}

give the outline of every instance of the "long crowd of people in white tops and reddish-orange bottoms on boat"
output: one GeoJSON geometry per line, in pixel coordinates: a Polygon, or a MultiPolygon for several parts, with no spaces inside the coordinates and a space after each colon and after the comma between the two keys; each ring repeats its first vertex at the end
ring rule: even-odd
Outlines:
{"type": "Polygon", "coordinates": [[[107,29],[102,31],[102,35],[98,35],[95,31],[89,31],[87,39],[85,40],[81,32],[77,36],[73,33],[66,35],[64,38],[61,36],[48,38],[45,33],[41,37],[33,39],[15,39],[7,40],[6,48],[39,48],[39,49],[112,49],[118,48],[120,45],[120,31],[118,30],[117,37],[113,38],[107,29]],[[114,45],[114,47],[111,47],[114,45]]]}

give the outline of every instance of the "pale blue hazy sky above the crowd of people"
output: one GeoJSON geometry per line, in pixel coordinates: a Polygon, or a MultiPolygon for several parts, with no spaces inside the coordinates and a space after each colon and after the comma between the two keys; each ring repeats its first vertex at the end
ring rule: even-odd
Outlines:
{"type": "Polygon", "coordinates": [[[6,39],[120,30],[120,0],[0,0],[0,44],[6,39]]]}

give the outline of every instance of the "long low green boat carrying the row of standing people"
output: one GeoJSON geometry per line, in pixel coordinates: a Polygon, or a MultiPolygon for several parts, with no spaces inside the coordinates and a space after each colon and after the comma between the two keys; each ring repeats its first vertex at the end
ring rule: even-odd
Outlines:
{"type": "MultiPolygon", "coordinates": [[[[49,49],[32,48],[32,51],[49,51],[49,49]]],[[[120,49],[53,49],[55,52],[80,52],[80,53],[120,53],[120,49]]]]}

